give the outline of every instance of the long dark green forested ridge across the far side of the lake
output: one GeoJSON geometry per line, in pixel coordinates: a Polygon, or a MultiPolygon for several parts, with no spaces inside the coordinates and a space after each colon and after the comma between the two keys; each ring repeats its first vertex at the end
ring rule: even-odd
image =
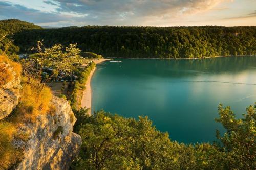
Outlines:
{"type": "Polygon", "coordinates": [[[77,43],[82,51],[103,57],[201,58],[256,54],[256,27],[35,28],[19,31],[14,38],[20,53],[28,52],[37,40],[44,39],[47,47],[77,43]]]}

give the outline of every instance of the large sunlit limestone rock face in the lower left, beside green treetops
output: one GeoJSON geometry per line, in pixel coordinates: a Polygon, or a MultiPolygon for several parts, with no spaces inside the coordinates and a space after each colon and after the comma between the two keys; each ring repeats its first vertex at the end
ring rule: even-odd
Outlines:
{"type": "Polygon", "coordinates": [[[29,133],[27,142],[16,141],[24,148],[24,159],[17,169],[68,169],[77,156],[81,137],[73,133],[76,118],[68,101],[53,96],[53,112],[39,115],[36,122],[20,129],[29,133]]]}

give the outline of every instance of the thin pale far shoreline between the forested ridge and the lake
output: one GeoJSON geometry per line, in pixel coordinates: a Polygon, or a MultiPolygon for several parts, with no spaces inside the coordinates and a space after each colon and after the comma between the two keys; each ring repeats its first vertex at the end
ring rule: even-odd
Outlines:
{"type": "Polygon", "coordinates": [[[238,56],[215,56],[215,57],[204,57],[204,58],[133,58],[133,57],[106,57],[106,59],[154,59],[154,60],[198,60],[207,58],[217,58],[217,57],[255,57],[256,55],[238,55],[238,56]]]}

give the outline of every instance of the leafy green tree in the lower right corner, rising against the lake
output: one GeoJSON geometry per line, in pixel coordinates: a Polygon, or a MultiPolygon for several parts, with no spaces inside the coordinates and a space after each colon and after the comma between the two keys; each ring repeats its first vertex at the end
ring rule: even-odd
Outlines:
{"type": "Polygon", "coordinates": [[[227,130],[217,138],[221,140],[225,151],[227,169],[254,169],[256,167],[256,105],[249,106],[243,119],[236,119],[230,107],[219,106],[220,118],[216,119],[227,130]]]}

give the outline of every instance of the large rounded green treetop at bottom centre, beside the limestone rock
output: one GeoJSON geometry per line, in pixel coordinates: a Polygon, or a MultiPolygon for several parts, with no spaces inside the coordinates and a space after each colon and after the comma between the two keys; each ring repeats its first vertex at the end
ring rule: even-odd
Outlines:
{"type": "MultiPolygon", "coordinates": [[[[80,112],[79,112],[80,113],[80,112]]],[[[100,111],[79,126],[82,150],[76,169],[147,169],[173,167],[170,141],[146,117],[125,119],[100,111]]]]}

